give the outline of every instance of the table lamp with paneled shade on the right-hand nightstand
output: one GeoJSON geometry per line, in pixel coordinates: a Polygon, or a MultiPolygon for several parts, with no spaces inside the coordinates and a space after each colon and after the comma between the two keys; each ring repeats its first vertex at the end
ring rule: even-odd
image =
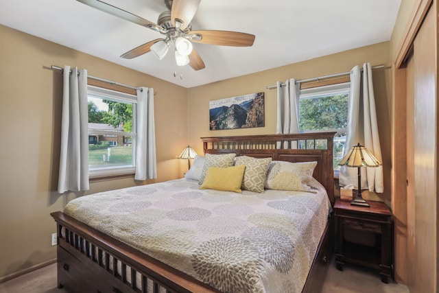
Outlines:
{"type": "Polygon", "coordinates": [[[361,197],[361,167],[378,167],[381,166],[381,162],[373,156],[373,154],[367,148],[359,143],[354,145],[351,150],[344,156],[342,161],[338,164],[346,167],[358,168],[358,191],[357,196],[351,201],[353,205],[359,205],[363,207],[370,207],[370,205],[361,197]]]}

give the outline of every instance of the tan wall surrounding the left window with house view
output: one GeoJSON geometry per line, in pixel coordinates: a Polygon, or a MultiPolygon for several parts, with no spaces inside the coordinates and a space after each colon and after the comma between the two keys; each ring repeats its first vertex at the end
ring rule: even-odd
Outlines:
{"type": "MultiPolygon", "coordinates": [[[[179,178],[187,144],[187,89],[0,25],[0,277],[56,257],[49,213],[77,194],[57,194],[62,75],[71,65],[88,74],[156,91],[157,181],[179,178]],[[169,119],[172,117],[172,119],[169,119]],[[169,143],[169,142],[172,143],[169,143]]],[[[128,187],[133,178],[91,183],[87,194],[128,187]]]]}

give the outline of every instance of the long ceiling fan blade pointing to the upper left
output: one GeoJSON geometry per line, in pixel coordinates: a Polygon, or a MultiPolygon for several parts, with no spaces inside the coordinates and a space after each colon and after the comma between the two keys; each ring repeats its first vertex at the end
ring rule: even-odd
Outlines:
{"type": "Polygon", "coordinates": [[[130,21],[132,23],[142,25],[143,27],[147,27],[151,30],[155,30],[156,32],[165,32],[163,27],[161,27],[160,25],[156,25],[155,23],[152,23],[151,21],[143,19],[140,16],[137,16],[135,14],[132,14],[131,12],[117,8],[116,6],[110,5],[108,3],[105,3],[105,2],[102,2],[99,0],[76,0],[76,1],[79,1],[81,3],[88,5],[88,6],[96,8],[97,10],[101,10],[101,11],[106,12],[108,14],[117,16],[121,19],[125,19],[126,21],[130,21]]]}

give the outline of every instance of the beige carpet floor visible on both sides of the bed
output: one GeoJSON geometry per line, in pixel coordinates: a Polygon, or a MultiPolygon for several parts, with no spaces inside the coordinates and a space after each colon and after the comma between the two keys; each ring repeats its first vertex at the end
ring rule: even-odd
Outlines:
{"type": "MultiPolygon", "coordinates": [[[[1,293],[67,293],[56,287],[56,264],[0,284],[1,293]]],[[[340,272],[332,262],[322,293],[408,293],[404,285],[381,283],[379,274],[354,266],[340,272]]],[[[318,293],[318,292],[316,292],[318,293]]]]}

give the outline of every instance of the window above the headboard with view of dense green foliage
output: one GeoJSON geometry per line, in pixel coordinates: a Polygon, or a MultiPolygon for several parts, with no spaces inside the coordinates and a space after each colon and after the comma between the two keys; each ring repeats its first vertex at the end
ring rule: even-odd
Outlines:
{"type": "Polygon", "coordinates": [[[343,158],[348,125],[350,82],[300,90],[299,130],[336,131],[334,137],[334,169],[343,158]]]}

